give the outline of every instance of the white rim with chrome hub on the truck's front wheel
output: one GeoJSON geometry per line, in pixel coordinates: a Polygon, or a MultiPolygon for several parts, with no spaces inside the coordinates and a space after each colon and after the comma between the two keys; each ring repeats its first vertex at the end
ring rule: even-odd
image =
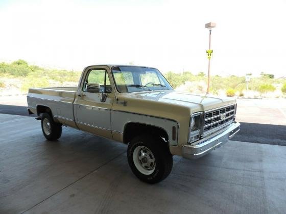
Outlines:
{"type": "Polygon", "coordinates": [[[137,146],[133,151],[133,163],[137,170],[144,175],[151,175],[155,171],[155,157],[150,149],[137,146]]]}

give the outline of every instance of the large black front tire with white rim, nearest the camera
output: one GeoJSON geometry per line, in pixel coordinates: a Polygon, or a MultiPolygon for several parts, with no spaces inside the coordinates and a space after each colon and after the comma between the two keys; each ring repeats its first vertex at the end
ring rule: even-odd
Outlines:
{"type": "Polygon", "coordinates": [[[146,183],[162,181],[173,167],[169,147],[162,139],[150,135],[133,138],[128,145],[127,158],[134,175],[146,183]]]}

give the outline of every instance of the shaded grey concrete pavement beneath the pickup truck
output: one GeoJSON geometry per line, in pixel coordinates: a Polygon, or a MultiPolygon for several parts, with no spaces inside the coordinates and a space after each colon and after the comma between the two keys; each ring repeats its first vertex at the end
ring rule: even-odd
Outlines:
{"type": "Polygon", "coordinates": [[[286,147],[230,141],[197,160],[174,156],[164,181],[129,169],[127,146],[0,114],[0,213],[285,213],[286,147]]]}

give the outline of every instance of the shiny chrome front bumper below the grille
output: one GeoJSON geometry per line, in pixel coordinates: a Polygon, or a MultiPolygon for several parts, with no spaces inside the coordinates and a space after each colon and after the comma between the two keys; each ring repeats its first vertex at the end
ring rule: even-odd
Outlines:
{"type": "Polygon", "coordinates": [[[196,159],[202,157],[212,151],[219,148],[228,142],[237,132],[240,130],[240,123],[234,122],[230,124],[226,130],[219,133],[219,135],[211,137],[204,142],[197,145],[184,145],[182,155],[188,159],[196,159]]]}

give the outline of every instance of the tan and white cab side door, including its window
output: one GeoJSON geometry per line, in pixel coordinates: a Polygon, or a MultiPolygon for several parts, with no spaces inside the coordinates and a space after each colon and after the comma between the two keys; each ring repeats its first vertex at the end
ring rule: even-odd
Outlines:
{"type": "Polygon", "coordinates": [[[110,111],[114,90],[112,90],[107,70],[105,68],[89,69],[81,87],[74,107],[78,127],[99,136],[112,138],[110,111]],[[99,85],[99,92],[88,90],[88,85],[99,85]],[[102,99],[103,95],[106,95],[106,99],[102,99]]]}

